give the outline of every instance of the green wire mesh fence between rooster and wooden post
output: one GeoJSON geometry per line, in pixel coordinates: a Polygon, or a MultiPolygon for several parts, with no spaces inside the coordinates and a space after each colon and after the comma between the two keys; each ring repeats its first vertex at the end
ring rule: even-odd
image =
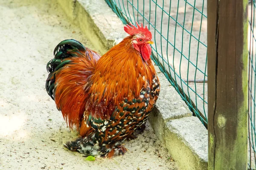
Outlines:
{"type": "Polygon", "coordinates": [[[206,0],[105,0],[124,24],[152,32],[152,59],[207,126],[206,0]]]}

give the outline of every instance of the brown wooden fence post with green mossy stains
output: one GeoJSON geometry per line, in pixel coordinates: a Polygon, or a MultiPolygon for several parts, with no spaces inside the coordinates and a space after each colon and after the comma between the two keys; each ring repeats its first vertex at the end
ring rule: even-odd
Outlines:
{"type": "Polygon", "coordinates": [[[247,169],[248,0],[207,0],[208,170],[247,169]]]}

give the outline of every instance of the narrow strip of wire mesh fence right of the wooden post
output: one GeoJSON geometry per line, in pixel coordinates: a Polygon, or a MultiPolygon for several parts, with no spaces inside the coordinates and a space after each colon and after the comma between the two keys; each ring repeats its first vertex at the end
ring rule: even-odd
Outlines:
{"type": "Polygon", "coordinates": [[[255,0],[249,2],[248,6],[248,48],[249,48],[249,89],[248,89],[248,138],[249,138],[249,167],[250,169],[256,169],[256,131],[255,131],[255,111],[256,111],[256,31],[255,25],[255,0]],[[255,34],[254,34],[255,33],[255,34]]]}

